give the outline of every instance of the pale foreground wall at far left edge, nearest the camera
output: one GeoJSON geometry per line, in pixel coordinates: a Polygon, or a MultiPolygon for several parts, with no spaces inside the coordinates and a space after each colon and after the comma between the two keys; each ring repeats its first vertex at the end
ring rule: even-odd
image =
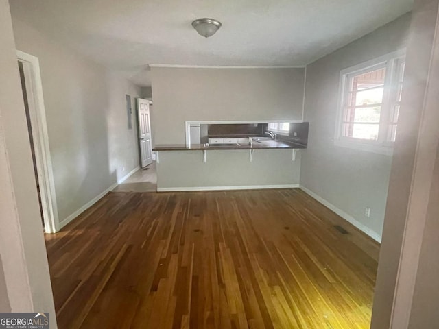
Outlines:
{"type": "Polygon", "coordinates": [[[0,45],[0,255],[8,300],[13,312],[51,313],[56,328],[7,0],[0,0],[0,45]]]}

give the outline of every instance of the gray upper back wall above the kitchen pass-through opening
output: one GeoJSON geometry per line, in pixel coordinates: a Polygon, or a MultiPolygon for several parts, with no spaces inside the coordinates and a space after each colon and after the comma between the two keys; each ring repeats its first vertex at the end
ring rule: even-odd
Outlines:
{"type": "Polygon", "coordinates": [[[304,69],[151,69],[156,144],[185,143],[185,121],[302,119],[304,69]]]}

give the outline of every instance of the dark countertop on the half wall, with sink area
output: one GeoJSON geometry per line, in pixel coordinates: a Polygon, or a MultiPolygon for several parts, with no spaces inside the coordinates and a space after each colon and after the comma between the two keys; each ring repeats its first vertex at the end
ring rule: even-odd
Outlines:
{"type": "Polygon", "coordinates": [[[254,142],[252,145],[220,144],[220,145],[204,146],[202,144],[193,144],[190,147],[184,144],[165,144],[165,145],[156,145],[152,150],[153,151],[193,151],[193,150],[209,151],[209,150],[217,150],[217,149],[306,149],[306,148],[307,147],[305,145],[291,143],[291,142],[266,141],[261,143],[254,142]]]}

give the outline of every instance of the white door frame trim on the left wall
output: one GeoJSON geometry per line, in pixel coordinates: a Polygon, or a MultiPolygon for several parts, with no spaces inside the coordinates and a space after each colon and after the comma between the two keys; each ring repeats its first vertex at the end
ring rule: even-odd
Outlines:
{"type": "Polygon", "coordinates": [[[27,82],[29,119],[32,127],[32,138],[34,139],[35,162],[45,232],[55,233],[59,227],[58,206],[56,204],[54,171],[49,148],[40,62],[36,56],[23,51],[17,50],[16,56],[19,62],[23,63],[25,81],[27,82]]]}

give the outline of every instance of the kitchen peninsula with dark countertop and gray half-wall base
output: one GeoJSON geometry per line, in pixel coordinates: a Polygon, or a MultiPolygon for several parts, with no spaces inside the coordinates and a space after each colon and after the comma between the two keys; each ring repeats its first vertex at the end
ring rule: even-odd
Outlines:
{"type": "Polygon", "coordinates": [[[298,187],[298,150],[307,148],[308,123],[289,127],[287,134],[276,136],[265,124],[259,136],[220,138],[239,143],[156,145],[157,191],[298,187]]]}

